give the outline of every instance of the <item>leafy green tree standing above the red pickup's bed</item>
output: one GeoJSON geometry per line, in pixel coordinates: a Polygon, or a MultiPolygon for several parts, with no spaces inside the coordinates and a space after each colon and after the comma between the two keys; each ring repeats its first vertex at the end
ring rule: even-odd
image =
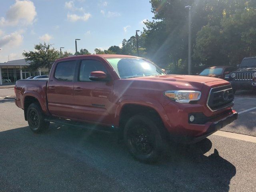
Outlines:
{"type": "Polygon", "coordinates": [[[60,53],[58,50],[52,47],[52,44],[37,44],[34,46],[35,51],[24,51],[22,55],[25,60],[30,62],[30,69],[37,68],[50,68],[56,59],[59,58],[60,53]]]}

